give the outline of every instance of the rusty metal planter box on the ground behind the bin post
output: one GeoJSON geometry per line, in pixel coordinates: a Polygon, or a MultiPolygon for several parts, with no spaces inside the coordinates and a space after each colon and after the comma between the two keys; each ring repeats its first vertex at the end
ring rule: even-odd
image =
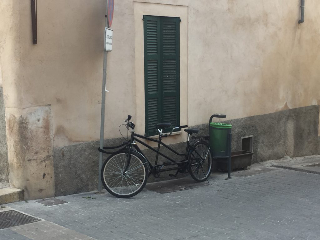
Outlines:
{"type": "MultiPolygon", "coordinates": [[[[234,169],[247,169],[251,165],[253,152],[235,151],[231,152],[231,171],[234,169]]],[[[222,171],[228,171],[228,158],[217,158],[216,168],[222,171]]]]}

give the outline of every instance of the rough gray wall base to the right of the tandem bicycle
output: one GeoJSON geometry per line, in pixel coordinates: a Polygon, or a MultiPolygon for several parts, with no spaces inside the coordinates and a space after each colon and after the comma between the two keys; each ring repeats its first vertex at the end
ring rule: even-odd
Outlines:
{"type": "MultiPolygon", "coordinates": [[[[241,150],[241,137],[253,135],[252,163],[320,153],[318,105],[221,122],[232,124],[232,151],[241,150]]],[[[208,135],[209,119],[195,127],[208,135]]]]}

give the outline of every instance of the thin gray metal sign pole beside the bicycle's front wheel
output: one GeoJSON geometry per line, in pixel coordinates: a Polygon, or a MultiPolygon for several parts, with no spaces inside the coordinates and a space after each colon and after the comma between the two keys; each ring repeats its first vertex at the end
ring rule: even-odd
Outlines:
{"type": "MultiPolygon", "coordinates": [[[[108,12],[108,2],[107,2],[106,12],[108,12]]],[[[108,18],[106,18],[105,23],[106,28],[108,27],[108,18]]],[[[101,124],[100,124],[100,148],[103,148],[103,139],[104,139],[104,113],[105,113],[105,103],[106,103],[106,78],[107,78],[107,54],[108,52],[104,51],[103,53],[103,75],[102,75],[102,99],[101,99],[101,124]]],[[[101,168],[102,168],[102,153],[99,152],[99,176],[98,176],[98,192],[102,191],[102,182],[101,182],[101,168]]]]}

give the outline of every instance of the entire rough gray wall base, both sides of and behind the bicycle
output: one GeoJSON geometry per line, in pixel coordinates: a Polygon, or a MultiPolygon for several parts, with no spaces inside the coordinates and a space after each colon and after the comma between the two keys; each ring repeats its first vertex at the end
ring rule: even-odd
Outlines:
{"type": "MultiPolygon", "coordinates": [[[[199,128],[197,135],[208,135],[208,124],[193,126],[199,128]]],[[[319,106],[294,108],[276,113],[251,116],[227,121],[232,124],[232,151],[241,149],[241,137],[253,135],[253,163],[283,156],[308,156],[319,154],[319,106]]],[[[115,146],[123,139],[105,140],[104,146],[115,146]]],[[[84,142],[54,149],[54,173],[56,196],[96,190],[98,186],[99,141],[84,142]]],[[[171,145],[176,151],[185,151],[185,143],[171,145]]],[[[169,150],[161,151],[176,158],[169,150]]],[[[143,150],[151,163],[156,154],[143,150]]],[[[108,155],[104,156],[104,160],[108,155]]],[[[178,161],[183,157],[178,157],[178,161]]],[[[158,162],[166,161],[160,157],[158,162]]],[[[169,173],[163,172],[160,178],[149,177],[148,182],[169,179],[169,173]]],[[[178,175],[179,176],[179,175],[178,175]]],[[[181,176],[181,175],[180,175],[181,176]]],[[[183,175],[182,175],[183,176],[183,175]]],[[[170,177],[172,178],[172,177],[170,177]]]]}

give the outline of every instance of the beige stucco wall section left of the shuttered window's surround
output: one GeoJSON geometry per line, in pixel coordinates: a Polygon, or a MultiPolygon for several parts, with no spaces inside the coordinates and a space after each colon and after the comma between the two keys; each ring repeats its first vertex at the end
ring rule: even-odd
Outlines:
{"type": "MultiPolygon", "coordinates": [[[[50,104],[55,147],[100,137],[105,2],[38,1],[37,45],[32,44],[30,1],[0,3],[6,107],[50,104]]],[[[115,137],[114,126],[136,108],[133,2],[116,2],[114,16],[118,52],[108,53],[106,138],[115,137]]]]}

